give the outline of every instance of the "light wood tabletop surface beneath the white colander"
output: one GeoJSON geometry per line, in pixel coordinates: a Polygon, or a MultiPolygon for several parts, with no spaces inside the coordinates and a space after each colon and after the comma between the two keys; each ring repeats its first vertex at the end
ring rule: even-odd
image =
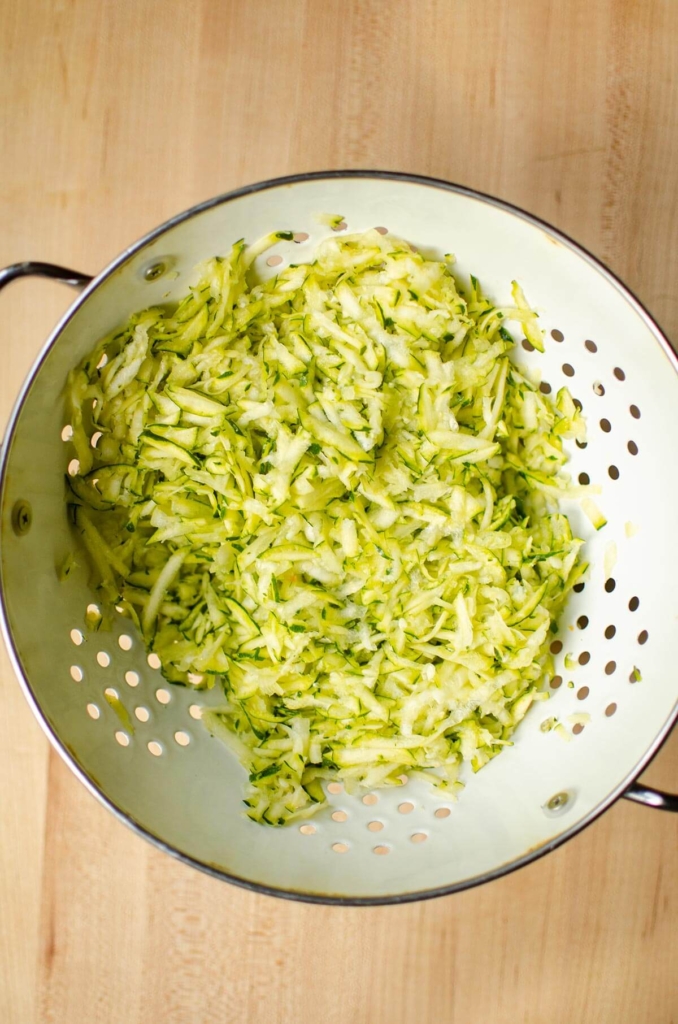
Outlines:
{"type": "MultiPolygon", "coordinates": [[[[0,263],[93,272],[246,182],[404,169],[552,221],[675,339],[677,52],[675,0],[3,0],[0,263]]],[[[69,301],[40,282],[0,297],[3,424],[69,301]]],[[[678,787],[678,735],[646,778],[678,787]]],[[[448,899],[358,910],[240,891],[92,800],[3,654],[3,1024],[670,1024],[677,884],[678,820],[623,801],[448,899]]]]}

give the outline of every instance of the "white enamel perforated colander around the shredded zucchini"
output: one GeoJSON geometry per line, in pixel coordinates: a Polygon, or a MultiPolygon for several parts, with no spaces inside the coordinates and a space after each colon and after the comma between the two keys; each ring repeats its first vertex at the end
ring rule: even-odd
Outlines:
{"type": "MultiPolygon", "coordinates": [[[[268,265],[267,265],[268,264],[268,265]]],[[[19,264],[75,285],[84,275],[19,264]]],[[[355,903],[417,899],[495,878],[553,849],[622,795],[676,809],[635,779],[677,714],[678,364],[629,291],[592,256],[505,203],[444,182],[377,172],[303,175],[195,207],[126,250],[82,292],[35,364],[2,453],[2,617],[26,695],[79,778],[158,846],[220,878],[280,895],[355,903]],[[586,582],[555,638],[550,699],[533,708],[515,745],[468,777],[456,804],[426,785],[348,796],[286,828],[243,814],[244,770],[200,722],[218,692],[168,685],[128,620],[86,627],[96,602],[85,568],[55,567],[73,548],[63,472],[75,453],[62,390],[69,370],[144,306],[186,290],[195,265],[240,238],[296,232],[260,262],[301,262],[341,213],[350,231],[380,226],[426,253],[455,252],[499,303],[517,279],[541,313],[546,352],[515,358],[542,390],[567,384],[588,441],[569,471],[601,485],[607,525],[586,539],[586,582]],[[568,667],[569,666],[569,667],[568,667]],[[571,716],[578,716],[571,718],[571,716]],[[580,716],[585,716],[581,718],[580,716]],[[566,739],[541,728],[547,718],[566,739]]],[[[84,561],[84,559],[81,559],[84,561]]]]}

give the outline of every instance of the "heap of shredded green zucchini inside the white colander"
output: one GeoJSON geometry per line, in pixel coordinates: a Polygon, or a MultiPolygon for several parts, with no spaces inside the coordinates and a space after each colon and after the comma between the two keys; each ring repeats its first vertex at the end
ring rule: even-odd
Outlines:
{"type": "MultiPolygon", "coordinates": [[[[545,698],[548,642],[584,565],[557,500],[584,423],[510,361],[496,307],[377,230],[265,284],[266,248],[208,260],[71,376],[74,520],[102,597],[283,824],[322,780],[423,777],[447,796],[545,698]]],[[[521,335],[517,335],[521,336],[521,335]]]]}

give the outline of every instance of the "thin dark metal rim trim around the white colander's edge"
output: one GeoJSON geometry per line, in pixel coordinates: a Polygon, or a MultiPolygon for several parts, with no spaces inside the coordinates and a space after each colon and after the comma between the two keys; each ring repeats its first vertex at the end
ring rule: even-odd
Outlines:
{"type": "MultiPolygon", "coordinates": [[[[0,455],[0,498],[4,492],[5,474],[7,469],[8,453],[11,449],[11,442],[13,438],[13,433],[16,427],[18,417],[20,415],[24,402],[28,396],[28,393],[33,385],[33,382],[40,371],[48,352],[50,351],[52,345],[56,342],[61,332],[66,326],[70,323],[76,311],[82,306],[89,296],[103,284],[108,278],[111,276],[116,270],[118,270],[124,263],[126,263],[132,256],[137,252],[147,246],[151,242],[160,238],[167,230],[175,227],[177,224],[182,223],[184,220],[188,220],[198,214],[204,213],[213,207],[220,206],[224,203],[231,202],[232,200],[240,199],[243,196],[249,196],[253,193],[264,191],[271,188],[279,188],[285,185],[298,184],[303,181],[319,181],[319,180],[333,180],[340,178],[373,178],[386,181],[400,181],[408,182],[410,184],[423,185],[430,188],[439,188],[443,191],[453,191],[461,196],[466,196],[469,199],[477,200],[482,203],[486,203],[490,206],[499,208],[508,213],[511,213],[522,220],[527,221],[527,223],[533,224],[536,227],[541,228],[546,231],[552,238],[556,239],[558,242],[562,243],[566,248],[570,249],[577,255],[582,257],[587,263],[589,263],[598,273],[601,274],[607,282],[612,284],[615,288],[623,295],[627,300],[629,305],[636,311],[642,321],[649,328],[653,334],[655,340],[660,346],[664,349],[666,355],[668,356],[670,362],[672,364],[676,373],[678,373],[678,356],[674,352],[669,340],[662,331],[661,327],[656,321],[651,316],[645,306],[640,302],[638,298],[633,294],[633,292],[615,274],[609,270],[597,257],[593,256],[588,250],[579,243],[575,242],[563,231],[558,230],[551,224],[542,220],[540,217],[536,217],[534,214],[526,213],[520,207],[514,206],[511,203],[507,203],[504,200],[495,198],[494,196],[489,196],[484,193],[476,191],[473,188],[468,188],[465,185],[453,184],[449,181],[443,181],[437,178],[424,177],[417,174],[407,174],[396,171],[375,171],[375,170],[346,170],[346,171],[313,171],[305,174],[293,174],[282,178],[272,178],[267,181],[260,181],[255,184],[246,185],[243,188],[237,188],[235,191],[226,193],[222,196],[217,196],[214,199],[207,200],[204,203],[200,203],[197,206],[192,207],[184,213],[180,213],[170,220],[165,221],[160,227],[155,228],[150,231],[133,246],[125,249],[120,256],[118,256],[112,263],[110,263],[96,278],[94,278],[91,283],[85,288],[82,294],[76,299],[73,305],[67,310],[65,315],[61,317],[59,323],[56,325],[54,330],[51,332],[49,338],[47,339],[45,345],[43,346],[41,352],[39,353],[37,359],[35,360],[29,376],[27,377],[24,385],[19,391],[18,397],[14,403],[11,415],[9,417],[9,422],[7,425],[7,432],[5,443],[0,455]]],[[[84,278],[84,275],[83,275],[84,278]]],[[[74,755],[66,749],[59,737],[54,732],[51,723],[47,720],[42,708],[40,707],[32,688],[31,684],[24,672],[24,668],[20,662],[18,651],[16,650],[11,632],[9,629],[7,607],[5,604],[4,590],[2,587],[2,565],[0,563],[0,628],[9,651],[10,659],[12,666],[18,678],[19,684],[24,690],[24,693],[29,701],[33,712],[38,719],[43,731],[47,735],[48,739],[56,750],[56,752],[61,756],[63,761],[69,765],[72,771],[78,776],[81,782],[89,790],[89,792],[94,796],[104,807],[107,807],[120,821],[128,825],[133,831],[143,839],[149,840],[158,849],[165,853],[169,853],[171,856],[175,857],[177,860],[182,861],[184,864],[188,864],[193,867],[197,867],[199,870],[204,871],[213,878],[220,879],[222,881],[230,882],[235,885],[241,886],[245,889],[249,889],[252,892],[262,893],[267,896],[279,896],[284,899],[299,900],[306,903],[321,903],[330,904],[336,906],[377,906],[384,904],[398,904],[398,903],[410,903],[417,900],[433,899],[437,896],[448,896],[452,893],[460,892],[465,889],[471,889],[475,886],[482,885],[486,882],[492,882],[495,879],[499,879],[505,874],[509,874],[511,871],[517,870],[519,867],[523,867],[526,864],[538,860],[545,854],[550,853],[556,847],[561,846],[568,840],[573,839],[574,836],[581,833],[584,828],[595,821],[604,811],[606,811],[620,797],[623,797],[627,790],[633,785],[636,778],[640,773],[646,768],[652,758],[656,755],[665,740],[667,739],[676,719],[678,718],[678,702],[674,707],[669,718],[664,723],[662,729],[660,729],[658,735],[655,736],[653,742],[650,744],[646,753],[642,756],[636,766],[631,772],[616,786],[616,788],[598,804],[592,811],[589,812],[586,817],[584,817],[580,822],[571,825],[568,829],[561,833],[559,836],[555,837],[553,840],[545,843],[543,846],[536,850],[531,850],[528,853],[524,854],[522,857],[518,857],[516,860],[512,860],[507,864],[503,864],[500,867],[495,868],[492,871],[488,871],[484,874],[477,876],[471,879],[465,879],[461,882],[455,883],[450,886],[441,886],[437,889],[422,890],[420,892],[410,892],[401,895],[395,896],[325,896],[314,893],[303,893],[295,892],[293,890],[278,889],[271,886],[262,885],[258,882],[251,882],[247,879],[242,879],[238,876],[230,874],[227,871],[215,867],[211,864],[207,864],[203,861],[197,860],[196,858],[182,853],[176,847],[165,843],[159,837],[154,836],[146,828],[135,821],[129,814],[122,811],[117,807],[98,787],[97,783],[87,774],[84,768],[78,763],[74,755]]],[[[630,795],[631,796],[631,795],[630,795]]],[[[633,797],[631,798],[633,799],[633,797]]]]}

